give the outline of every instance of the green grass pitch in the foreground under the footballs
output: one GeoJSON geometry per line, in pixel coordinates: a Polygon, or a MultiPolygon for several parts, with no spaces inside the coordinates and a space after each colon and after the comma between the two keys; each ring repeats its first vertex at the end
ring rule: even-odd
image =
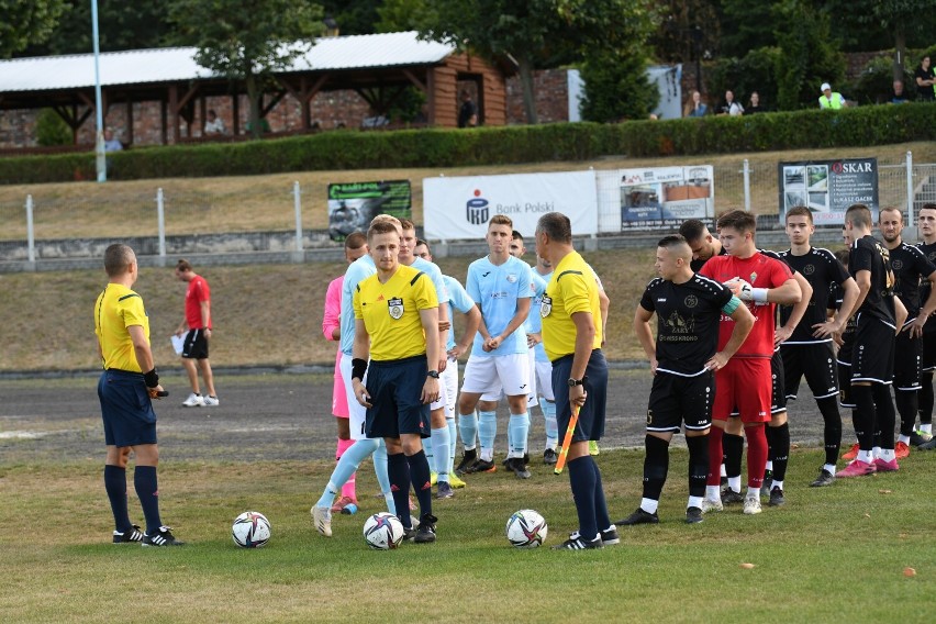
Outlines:
{"type": "MultiPolygon", "coordinates": [[[[0,468],[0,592],[4,622],[929,622],[936,590],[932,475],[914,454],[896,475],[805,484],[822,464],[795,449],[788,504],[738,506],[683,523],[684,450],[673,450],[661,523],[621,531],[598,551],[519,550],[504,538],[515,510],[549,523],[547,546],[576,528],[568,478],[539,469],[520,483],[475,476],[437,502],[438,542],[374,551],[360,528],[380,511],[370,464],[366,508],[336,516],[335,537],[309,521],[331,463],[164,464],[164,522],[189,544],[110,544],[96,461],[0,468]],[[242,511],[270,519],[261,549],[237,548],[242,511]],[[15,512],[13,512],[15,510],[15,512]],[[742,567],[753,564],[753,568],[742,567]],[[905,569],[915,569],[906,576],[905,569]]],[[[612,519],[636,509],[643,453],[599,457],[612,519]]],[[[131,479],[131,517],[140,521],[131,479]]]]}

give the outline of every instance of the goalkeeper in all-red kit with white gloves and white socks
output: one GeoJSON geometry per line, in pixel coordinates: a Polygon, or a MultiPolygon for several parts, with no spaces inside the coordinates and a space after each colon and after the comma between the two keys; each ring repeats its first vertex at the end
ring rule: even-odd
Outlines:
{"type": "MultiPolygon", "coordinates": [[[[770,358],[773,355],[776,307],[778,303],[799,303],[802,290],[789,266],[757,250],[754,241],[757,221],[753,214],[742,210],[729,211],[718,219],[717,226],[718,239],[727,255],[710,258],[699,274],[729,287],[747,304],[755,323],[735,356],[715,374],[714,426],[709,436],[710,471],[702,510],[722,510],[718,491],[722,436],[732,409],[737,406],[748,444],[748,492],[744,513],[753,515],[761,511],[760,487],[767,461],[764,427],[770,422],[770,358]]],[[[722,315],[718,350],[728,342],[733,328],[734,321],[722,315]]]]}

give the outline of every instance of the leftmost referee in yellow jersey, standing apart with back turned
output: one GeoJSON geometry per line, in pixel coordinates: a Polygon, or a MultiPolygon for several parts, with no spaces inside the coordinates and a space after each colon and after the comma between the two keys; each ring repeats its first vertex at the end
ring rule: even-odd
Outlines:
{"type": "Polygon", "coordinates": [[[126,245],[111,245],[104,252],[104,269],[109,281],[94,304],[94,334],[104,367],[98,380],[98,398],[108,447],[104,489],[114,516],[113,542],[181,546],[183,543],[159,519],[159,447],[151,399],[165,392],[149,349],[149,317],[143,299],[131,290],[140,276],[136,255],[126,245]],[[126,464],[131,452],[136,461],[133,484],[146,519],[146,534],[131,523],[126,509],[126,464]]]}

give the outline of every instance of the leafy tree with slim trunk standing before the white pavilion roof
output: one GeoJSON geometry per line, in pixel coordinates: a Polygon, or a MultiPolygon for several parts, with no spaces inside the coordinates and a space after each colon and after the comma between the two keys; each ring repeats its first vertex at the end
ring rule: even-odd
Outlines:
{"type": "Polygon", "coordinates": [[[170,16],[193,40],[199,65],[244,81],[254,138],[265,80],[308,52],[324,29],[319,4],[293,0],[172,0],[170,16]]]}

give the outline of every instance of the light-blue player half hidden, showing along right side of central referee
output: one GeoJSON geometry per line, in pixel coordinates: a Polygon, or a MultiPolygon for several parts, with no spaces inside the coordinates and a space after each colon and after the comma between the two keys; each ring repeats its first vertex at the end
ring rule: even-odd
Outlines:
{"type": "MultiPolygon", "coordinates": [[[[448,334],[452,323],[448,314],[448,291],[445,288],[445,281],[442,279],[442,271],[430,260],[419,258],[413,254],[416,247],[416,226],[409,219],[401,219],[400,225],[403,229],[400,237],[400,264],[411,266],[425,272],[435,286],[438,297],[438,344],[445,345],[448,343],[448,334]]],[[[448,358],[439,349],[439,361],[435,363],[438,368],[439,378],[445,374],[448,358]]],[[[445,383],[439,383],[438,399],[430,404],[430,433],[431,436],[423,442],[426,459],[430,463],[430,469],[435,472],[436,478],[436,498],[450,499],[455,495],[452,489],[449,479],[450,470],[450,435],[448,432],[448,423],[445,417],[445,406],[447,403],[445,383]]]]}

